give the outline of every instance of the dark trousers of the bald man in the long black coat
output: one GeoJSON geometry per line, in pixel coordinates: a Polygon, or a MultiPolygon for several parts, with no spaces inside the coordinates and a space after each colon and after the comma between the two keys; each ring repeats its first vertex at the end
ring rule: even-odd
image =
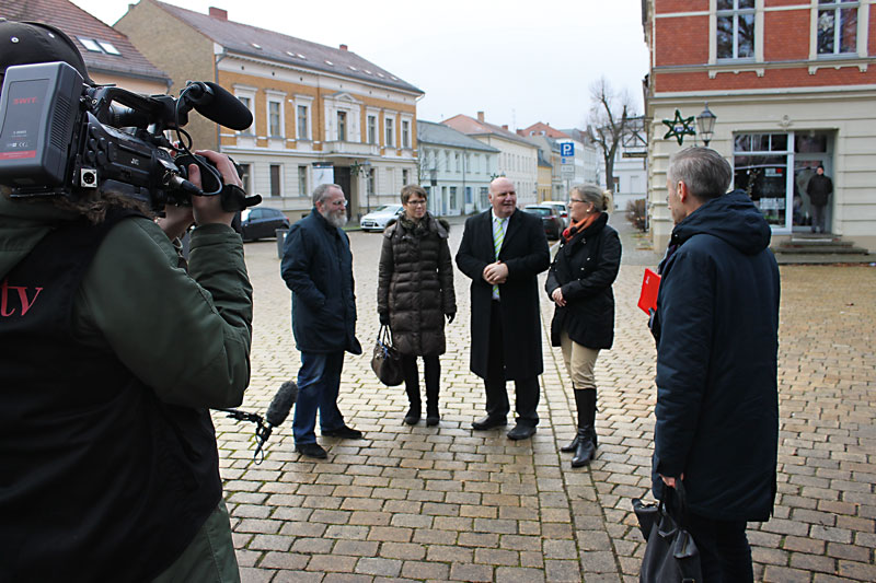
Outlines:
{"type": "MultiPolygon", "coordinates": [[[[508,390],[505,388],[505,345],[502,333],[502,308],[499,302],[491,302],[489,312],[489,350],[487,352],[486,378],[486,413],[489,417],[508,417],[511,410],[508,403],[508,390]]],[[[515,409],[517,422],[535,427],[539,424],[539,377],[516,378],[515,409]]]]}

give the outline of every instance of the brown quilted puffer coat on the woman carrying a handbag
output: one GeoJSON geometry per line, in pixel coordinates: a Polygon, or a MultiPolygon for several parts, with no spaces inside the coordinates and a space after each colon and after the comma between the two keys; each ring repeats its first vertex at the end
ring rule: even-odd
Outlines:
{"type": "Polygon", "coordinates": [[[402,354],[431,357],[445,353],[445,315],[457,313],[457,296],[450,225],[428,213],[419,223],[403,218],[383,232],[377,310],[389,313],[402,354]]]}

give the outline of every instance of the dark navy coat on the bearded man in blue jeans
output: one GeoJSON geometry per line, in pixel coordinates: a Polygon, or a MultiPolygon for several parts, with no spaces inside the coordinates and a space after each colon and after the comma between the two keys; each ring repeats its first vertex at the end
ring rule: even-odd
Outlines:
{"type": "Polygon", "coordinates": [[[315,207],[286,235],[280,273],[292,290],[292,333],[298,350],[361,354],[356,339],[349,237],[328,224],[315,207]]]}

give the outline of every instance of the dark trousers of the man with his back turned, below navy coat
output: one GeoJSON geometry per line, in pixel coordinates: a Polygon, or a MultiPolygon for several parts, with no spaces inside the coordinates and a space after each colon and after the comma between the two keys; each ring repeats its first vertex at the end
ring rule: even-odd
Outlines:
{"type": "Polygon", "coordinates": [[[705,583],[751,583],[751,547],[746,521],[716,521],[690,512],[684,526],[700,549],[705,583]]]}

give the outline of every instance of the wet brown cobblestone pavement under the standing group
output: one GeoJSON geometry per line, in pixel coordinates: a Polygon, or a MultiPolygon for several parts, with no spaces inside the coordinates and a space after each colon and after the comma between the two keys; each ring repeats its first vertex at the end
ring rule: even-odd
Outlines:
{"type": "MultiPolygon", "coordinates": [[[[600,448],[579,469],[558,452],[575,432],[574,398],[548,342],[546,298],[542,423],[531,441],[470,428],[484,392],[469,372],[459,272],[441,423],[411,428],[403,388],[382,386],[369,368],[381,236],[350,233],[366,353],[347,355],[341,409],[366,439],[318,438],[328,459],[313,462],[295,453],[287,421],[255,465],[252,425],[215,415],[244,581],[637,581],[644,545],[631,499],[649,482],[655,350],[635,300],[641,266],[657,256],[624,231],[615,346],[597,363],[600,448]]],[[[454,226],[453,249],[461,234],[454,226]]],[[[243,408],[264,412],[299,358],[275,242],[247,244],[246,261],[255,339],[243,408]]],[[[756,580],[876,581],[876,268],[787,266],[782,285],[779,497],[775,517],[750,525],[756,580]]]]}

